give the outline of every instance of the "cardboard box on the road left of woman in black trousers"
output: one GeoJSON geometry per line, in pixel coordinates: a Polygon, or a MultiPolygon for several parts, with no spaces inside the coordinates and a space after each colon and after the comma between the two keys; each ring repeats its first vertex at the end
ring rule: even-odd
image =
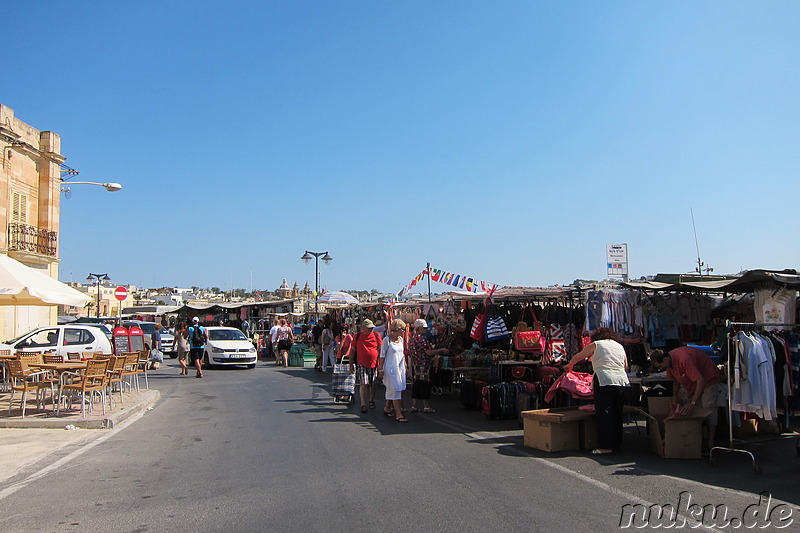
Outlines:
{"type": "Polygon", "coordinates": [[[587,442],[586,437],[582,437],[587,434],[590,439],[596,440],[596,430],[587,432],[581,429],[587,420],[594,422],[594,414],[575,407],[523,411],[522,419],[523,442],[525,446],[537,450],[546,452],[578,450],[582,447],[581,444],[587,442]]]}

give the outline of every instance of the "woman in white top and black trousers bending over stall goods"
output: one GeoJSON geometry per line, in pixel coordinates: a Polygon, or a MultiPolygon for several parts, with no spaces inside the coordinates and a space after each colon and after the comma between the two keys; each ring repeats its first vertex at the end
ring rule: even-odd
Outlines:
{"type": "Polygon", "coordinates": [[[592,359],[594,369],[594,408],[597,417],[598,448],[595,455],[612,453],[622,444],[622,406],[628,382],[628,358],[619,337],[610,328],[599,328],[592,334],[592,342],[575,354],[564,370],[570,371],[575,363],[592,359]]]}

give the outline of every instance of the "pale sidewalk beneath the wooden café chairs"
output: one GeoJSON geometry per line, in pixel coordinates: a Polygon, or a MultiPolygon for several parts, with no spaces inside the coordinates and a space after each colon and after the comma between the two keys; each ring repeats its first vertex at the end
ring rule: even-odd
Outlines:
{"type": "MultiPolygon", "coordinates": [[[[9,394],[0,394],[0,481],[13,478],[25,468],[61,450],[80,447],[102,436],[105,432],[98,430],[119,427],[147,411],[161,396],[157,390],[128,392],[124,394],[124,405],[120,405],[117,394],[114,410],[106,407],[103,415],[102,407],[95,405],[93,412],[84,419],[80,410],[52,416],[49,404],[45,413],[31,409],[33,404],[29,404],[25,418],[19,416],[18,409],[11,411],[16,416],[4,416],[8,413],[9,394]],[[75,426],[75,429],[68,430],[67,426],[75,426]]],[[[17,398],[14,399],[15,406],[18,405],[17,398]]]]}

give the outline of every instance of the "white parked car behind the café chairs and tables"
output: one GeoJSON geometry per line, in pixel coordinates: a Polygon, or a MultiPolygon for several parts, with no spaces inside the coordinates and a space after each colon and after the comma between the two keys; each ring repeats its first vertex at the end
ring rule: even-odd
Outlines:
{"type": "Polygon", "coordinates": [[[101,328],[90,324],[44,326],[0,344],[0,350],[13,352],[55,352],[67,357],[67,352],[112,353],[111,342],[101,328]]]}

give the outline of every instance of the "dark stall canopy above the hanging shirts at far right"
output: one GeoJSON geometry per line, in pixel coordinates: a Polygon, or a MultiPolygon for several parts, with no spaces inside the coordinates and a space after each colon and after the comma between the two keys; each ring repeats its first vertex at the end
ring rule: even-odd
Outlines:
{"type": "MultiPolygon", "coordinates": [[[[709,277],[706,276],[706,279],[709,277]]],[[[702,276],[659,274],[652,281],[630,281],[621,286],[642,291],[692,291],[692,292],[753,292],[764,285],[778,285],[800,289],[800,275],[796,270],[748,270],[740,276],[717,276],[708,281],[702,276]]]]}

